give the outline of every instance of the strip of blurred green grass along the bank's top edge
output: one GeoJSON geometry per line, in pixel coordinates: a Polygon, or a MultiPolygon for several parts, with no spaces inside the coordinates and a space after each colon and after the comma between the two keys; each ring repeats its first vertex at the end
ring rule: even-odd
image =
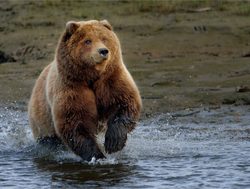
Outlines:
{"type": "MultiPolygon", "coordinates": [[[[16,1],[13,1],[13,3],[16,1]]],[[[156,13],[170,14],[174,12],[192,12],[198,8],[210,7],[211,10],[226,11],[240,16],[250,15],[250,2],[248,0],[41,0],[38,2],[26,0],[27,4],[40,8],[58,10],[58,7],[65,7],[65,14],[74,18],[99,18],[107,8],[112,8],[120,15],[156,13]],[[101,8],[100,8],[101,7],[101,8]],[[103,10],[102,10],[103,8],[103,10]],[[70,10],[73,9],[71,12],[70,10]],[[84,10],[84,11],[83,11],[84,10]],[[101,10],[101,11],[100,11],[101,10]]]]}

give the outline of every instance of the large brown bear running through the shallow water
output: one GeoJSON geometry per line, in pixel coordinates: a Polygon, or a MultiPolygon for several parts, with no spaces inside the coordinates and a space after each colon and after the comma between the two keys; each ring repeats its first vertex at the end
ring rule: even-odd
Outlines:
{"type": "Polygon", "coordinates": [[[54,61],[35,83],[28,113],[38,142],[62,141],[83,160],[120,151],[139,119],[141,97],[108,21],[66,24],[54,61]]]}

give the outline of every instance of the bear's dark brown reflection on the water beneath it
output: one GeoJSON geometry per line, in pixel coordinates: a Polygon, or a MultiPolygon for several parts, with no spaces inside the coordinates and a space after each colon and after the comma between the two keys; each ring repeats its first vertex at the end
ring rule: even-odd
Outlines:
{"type": "Polygon", "coordinates": [[[60,163],[57,161],[48,161],[43,158],[34,159],[36,167],[41,172],[48,172],[51,175],[51,184],[55,186],[76,186],[88,182],[88,187],[98,186],[98,183],[124,182],[127,177],[134,174],[135,166],[121,163],[89,164],[81,162],[60,163]],[[93,185],[91,184],[93,182],[93,185]],[[73,184],[73,185],[72,185],[73,184]]]}

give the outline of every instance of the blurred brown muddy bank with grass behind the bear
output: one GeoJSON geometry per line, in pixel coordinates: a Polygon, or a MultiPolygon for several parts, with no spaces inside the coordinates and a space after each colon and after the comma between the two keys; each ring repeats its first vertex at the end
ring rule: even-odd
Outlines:
{"type": "Polygon", "coordinates": [[[26,110],[65,23],[90,19],[118,34],[143,116],[250,104],[250,2],[218,0],[1,0],[0,104],[26,110]]]}

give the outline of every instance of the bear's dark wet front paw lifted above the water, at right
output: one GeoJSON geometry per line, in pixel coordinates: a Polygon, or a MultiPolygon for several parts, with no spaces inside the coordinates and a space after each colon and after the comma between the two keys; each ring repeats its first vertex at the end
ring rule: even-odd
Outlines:
{"type": "Polygon", "coordinates": [[[127,141],[127,133],[127,127],[119,122],[109,125],[104,143],[106,152],[111,154],[123,149],[127,141]]]}

